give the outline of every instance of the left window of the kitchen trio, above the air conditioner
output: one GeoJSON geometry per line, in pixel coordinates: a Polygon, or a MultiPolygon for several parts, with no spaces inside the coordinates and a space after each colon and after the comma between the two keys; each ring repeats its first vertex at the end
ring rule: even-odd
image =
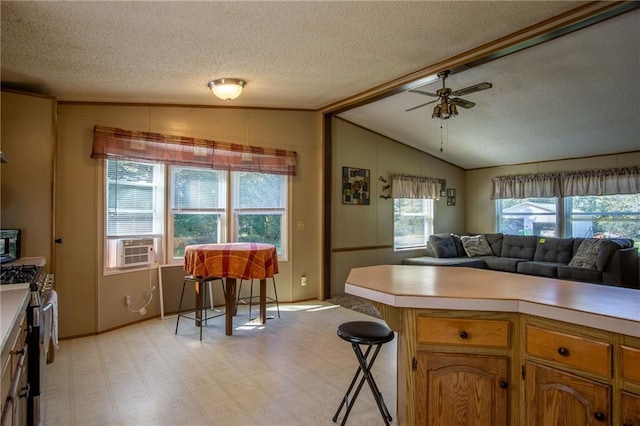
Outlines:
{"type": "Polygon", "coordinates": [[[157,253],[164,226],[164,167],[135,161],[106,162],[106,264],[117,266],[118,241],[146,237],[157,253]]]}

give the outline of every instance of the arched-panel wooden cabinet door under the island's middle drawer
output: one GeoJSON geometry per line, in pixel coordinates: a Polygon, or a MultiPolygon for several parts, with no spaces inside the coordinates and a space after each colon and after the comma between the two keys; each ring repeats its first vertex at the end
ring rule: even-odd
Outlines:
{"type": "Polygon", "coordinates": [[[608,385],[527,362],[525,395],[528,426],[611,424],[608,385]]]}

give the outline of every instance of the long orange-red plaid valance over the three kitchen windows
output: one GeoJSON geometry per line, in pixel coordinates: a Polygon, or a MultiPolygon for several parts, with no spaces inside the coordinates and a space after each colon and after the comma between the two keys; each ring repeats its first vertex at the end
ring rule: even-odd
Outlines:
{"type": "Polygon", "coordinates": [[[94,126],[91,158],[296,175],[295,151],[94,126]]]}

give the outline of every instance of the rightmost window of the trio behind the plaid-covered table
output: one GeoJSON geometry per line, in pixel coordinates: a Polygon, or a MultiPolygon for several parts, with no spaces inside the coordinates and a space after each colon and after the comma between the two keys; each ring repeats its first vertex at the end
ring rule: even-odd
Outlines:
{"type": "Polygon", "coordinates": [[[283,175],[232,172],[235,241],[269,243],[283,256],[287,179],[283,175]]]}

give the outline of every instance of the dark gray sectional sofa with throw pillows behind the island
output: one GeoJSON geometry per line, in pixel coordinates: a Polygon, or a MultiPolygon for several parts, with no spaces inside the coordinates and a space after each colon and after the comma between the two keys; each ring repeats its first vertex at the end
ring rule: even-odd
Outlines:
{"type": "Polygon", "coordinates": [[[425,256],[403,265],[467,266],[548,278],[640,288],[638,249],[630,239],[534,235],[435,234],[425,256]]]}

